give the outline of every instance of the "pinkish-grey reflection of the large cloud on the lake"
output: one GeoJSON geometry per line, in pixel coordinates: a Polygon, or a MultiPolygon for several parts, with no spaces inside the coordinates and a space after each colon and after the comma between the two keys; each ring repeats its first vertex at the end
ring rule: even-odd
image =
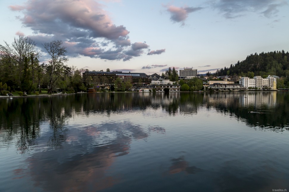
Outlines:
{"type": "MultiPolygon", "coordinates": [[[[152,131],[165,132],[162,127],[152,131]]],[[[53,131],[53,134],[54,131],[53,131]]],[[[49,139],[52,147],[63,149],[34,153],[26,163],[35,185],[48,191],[98,191],[118,183],[107,174],[117,157],[127,155],[134,139],[145,139],[149,132],[131,122],[106,122],[70,130],[61,140],[49,139]],[[82,130],[85,130],[84,132],[82,130]],[[81,152],[81,153],[80,153],[81,152]]],[[[15,170],[18,173],[19,171],[15,170]]]]}

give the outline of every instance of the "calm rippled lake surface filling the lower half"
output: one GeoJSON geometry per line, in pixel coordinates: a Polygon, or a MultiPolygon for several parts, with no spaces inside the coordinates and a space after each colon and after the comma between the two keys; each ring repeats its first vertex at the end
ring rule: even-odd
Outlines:
{"type": "Polygon", "coordinates": [[[289,190],[289,93],[0,99],[0,191],[289,190]]]}

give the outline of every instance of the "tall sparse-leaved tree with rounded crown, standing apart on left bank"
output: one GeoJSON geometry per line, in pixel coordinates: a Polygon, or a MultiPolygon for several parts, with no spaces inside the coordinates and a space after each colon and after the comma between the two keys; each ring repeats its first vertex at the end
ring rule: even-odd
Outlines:
{"type": "Polygon", "coordinates": [[[50,43],[44,43],[43,47],[46,49],[48,54],[51,56],[51,59],[48,60],[48,73],[49,73],[49,84],[48,84],[48,93],[52,93],[52,88],[55,81],[60,76],[60,71],[65,62],[68,59],[65,57],[67,51],[66,47],[61,46],[62,41],[51,41],[50,43]]]}

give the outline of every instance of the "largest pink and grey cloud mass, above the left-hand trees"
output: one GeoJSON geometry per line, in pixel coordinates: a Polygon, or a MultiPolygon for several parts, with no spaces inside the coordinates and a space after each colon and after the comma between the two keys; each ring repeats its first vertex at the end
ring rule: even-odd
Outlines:
{"type": "Polygon", "coordinates": [[[149,45],[132,44],[130,32],[123,25],[116,26],[103,7],[94,0],[27,0],[11,5],[10,10],[24,14],[18,19],[33,31],[29,37],[44,52],[43,43],[62,40],[71,57],[127,61],[141,56],[149,45]]]}

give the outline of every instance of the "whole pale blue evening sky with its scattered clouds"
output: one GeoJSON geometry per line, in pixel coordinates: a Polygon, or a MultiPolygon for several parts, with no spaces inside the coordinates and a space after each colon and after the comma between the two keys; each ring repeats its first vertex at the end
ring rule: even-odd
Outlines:
{"type": "Polygon", "coordinates": [[[1,35],[61,40],[68,66],[161,74],[215,72],[254,53],[289,51],[288,0],[0,1],[1,35]]]}

